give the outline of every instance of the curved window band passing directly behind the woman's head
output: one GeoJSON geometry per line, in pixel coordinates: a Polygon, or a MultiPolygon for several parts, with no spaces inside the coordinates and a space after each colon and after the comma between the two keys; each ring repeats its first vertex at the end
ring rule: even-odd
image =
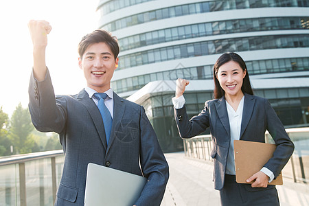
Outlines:
{"type": "MultiPolygon", "coordinates": [[[[173,52],[173,50],[170,50],[173,52]]],[[[162,51],[161,56],[162,56],[162,51]]],[[[297,62],[297,71],[306,71],[309,70],[309,58],[286,58],[286,59],[272,59],[272,60],[253,60],[246,61],[248,73],[250,76],[262,73],[278,73],[278,72],[288,72],[293,68],[293,64],[297,62]]],[[[204,65],[198,67],[189,67],[181,69],[171,69],[170,71],[160,71],[157,73],[150,73],[143,76],[126,78],[124,80],[113,81],[112,87],[116,92],[126,92],[136,89],[141,89],[148,82],[156,80],[176,80],[177,78],[187,78],[188,80],[210,80],[213,78],[213,67],[214,65],[204,65]],[[126,81],[125,81],[126,80],[126,81]]],[[[308,91],[304,90],[299,91],[288,91],[289,98],[301,96],[306,94],[308,91]]],[[[277,94],[272,93],[272,96],[277,98],[283,98],[286,94],[286,89],[284,91],[277,91],[277,94]]],[[[264,93],[257,93],[262,97],[266,97],[264,93]]],[[[266,91],[266,95],[269,95],[269,92],[266,91]]]]}

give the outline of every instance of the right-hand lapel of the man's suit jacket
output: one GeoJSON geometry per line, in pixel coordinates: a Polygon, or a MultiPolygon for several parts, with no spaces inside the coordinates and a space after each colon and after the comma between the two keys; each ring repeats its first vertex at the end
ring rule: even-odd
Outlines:
{"type": "Polygon", "coordinates": [[[109,137],[108,147],[107,147],[106,152],[108,152],[109,148],[111,148],[111,145],[113,144],[116,138],[116,131],[119,125],[121,124],[122,116],[124,115],[124,111],[126,108],[124,99],[119,98],[119,96],[115,92],[113,93],[113,100],[114,100],[113,125],[111,129],[111,137],[109,137]]]}

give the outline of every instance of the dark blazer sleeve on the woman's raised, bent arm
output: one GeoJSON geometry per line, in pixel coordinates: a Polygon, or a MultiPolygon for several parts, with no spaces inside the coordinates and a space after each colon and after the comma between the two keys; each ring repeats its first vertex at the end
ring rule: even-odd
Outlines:
{"type": "Polygon", "coordinates": [[[179,135],[182,138],[191,138],[203,133],[209,127],[209,102],[205,102],[205,108],[197,116],[189,119],[185,106],[183,108],[174,108],[174,117],[176,120],[179,135]]]}

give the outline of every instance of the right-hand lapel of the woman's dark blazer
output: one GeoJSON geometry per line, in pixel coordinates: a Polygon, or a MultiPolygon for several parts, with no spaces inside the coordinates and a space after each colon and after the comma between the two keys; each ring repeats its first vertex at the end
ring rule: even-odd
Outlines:
{"type": "Polygon", "coordinates": [[[254,103],[255,98],[253,97],[253,95],[248,95],[247,93],[244,93],[244,108],[242,111],[242,125],[240,128],[240,139],[244,134],[244,130],[246,130],[248,126],[249,120],[253,113],[254,103]]]}

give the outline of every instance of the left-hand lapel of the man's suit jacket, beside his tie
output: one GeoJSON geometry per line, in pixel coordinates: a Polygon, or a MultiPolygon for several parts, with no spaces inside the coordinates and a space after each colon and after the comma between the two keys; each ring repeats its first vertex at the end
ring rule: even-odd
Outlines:
{"type": "Polygon", "coordinates": [[[103,119],[102,119],[102,116],[100,114],[98,107],[95,105],[93,100],[89,98],[88,93],[84,89],[80,91],[80,93],[78,93],[77,100],[80,101],[82,104],[84,104],[84,106],[87,108],[91,118],[93,119],[93,123],[100,136],[104,149],[106,150],[107,143],[106,143],[103,119]]]}

